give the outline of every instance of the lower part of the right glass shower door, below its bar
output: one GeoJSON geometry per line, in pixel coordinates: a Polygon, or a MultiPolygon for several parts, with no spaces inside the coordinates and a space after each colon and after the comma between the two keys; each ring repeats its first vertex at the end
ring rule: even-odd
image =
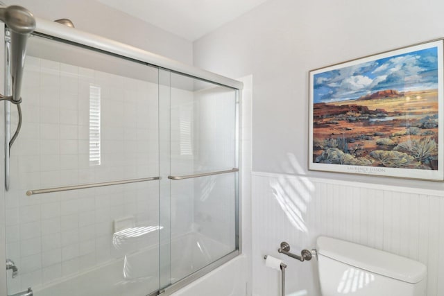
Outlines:
{"type": "Polygon", "coordinates": [[[234,173],[171,184],[172,283],[237,249],[235,196],[234,173]]]}

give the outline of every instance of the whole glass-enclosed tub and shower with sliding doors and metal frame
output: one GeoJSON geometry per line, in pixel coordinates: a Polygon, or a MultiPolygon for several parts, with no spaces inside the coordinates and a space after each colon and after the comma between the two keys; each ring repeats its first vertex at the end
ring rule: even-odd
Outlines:
{"type": "Polygon", "coordinates": [[[53,21],[17,32],[22,9],[1,24],[8,295],[169,295],[237,256],[241,82],[53,21]]]}

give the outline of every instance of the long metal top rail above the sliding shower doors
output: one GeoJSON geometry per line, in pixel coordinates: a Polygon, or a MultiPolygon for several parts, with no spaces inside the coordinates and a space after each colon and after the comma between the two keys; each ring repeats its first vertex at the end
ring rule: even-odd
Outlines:
{"type": "Polygon", "coordinates": [[[99,49],[101,51],[108,51],[109,53],[114,53],[126,58],[138,60],[140,62],[153,64],[158,67],[162,67],[179,73],[184,73],[196,78],[202,78],[204,80],[216,82],[219,85],[225,85],[234,89],[242,89],[244,87],[244,84],[240,81],[220,76],[216,73],[212,73],[210,71],[206,71],[197,67],[189,66],[188,64],[165,58],[162,55],[157,55],[149,51],[144,51],[143,49],[138,49],[137,47],[130,46],[128,44],[123,44],[121,42],[110,40],[99,35],[83,32],[76,28],[69,28],[54,21],[48,21],[46,19],[40,19],[38,17],[36,17],[36,20],[37,25],[35,28],[35,32],[41,33],[43,35],[49,35],[62,40],[67,40],[69,42],[83,44],[85,46],[99,49]]]}

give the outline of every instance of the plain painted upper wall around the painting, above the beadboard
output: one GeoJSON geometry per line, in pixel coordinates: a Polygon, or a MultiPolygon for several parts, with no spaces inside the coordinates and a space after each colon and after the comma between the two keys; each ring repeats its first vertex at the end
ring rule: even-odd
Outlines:
{"type": "Polygon", "coordinates": [[[269,0],[194,42],[194,64],[253,74],[253,171],[443,189],[307,169],[309,70],[443,37],[443,14],[440,0],[269,0]]]}

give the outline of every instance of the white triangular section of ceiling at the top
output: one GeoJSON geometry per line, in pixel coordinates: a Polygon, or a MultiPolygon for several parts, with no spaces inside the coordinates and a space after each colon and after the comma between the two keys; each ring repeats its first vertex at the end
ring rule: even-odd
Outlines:
{"type": "Polygon", "coordinates": [[[197,40],[266,0],[97,0],[189,41],[197,40]]]}

